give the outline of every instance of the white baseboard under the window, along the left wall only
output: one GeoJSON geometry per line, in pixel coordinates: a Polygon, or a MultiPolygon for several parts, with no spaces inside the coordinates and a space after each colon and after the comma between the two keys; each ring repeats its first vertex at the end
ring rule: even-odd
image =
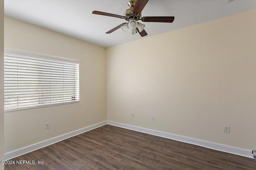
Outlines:
{"type": "Polygon", "coordinates": [[[107,124],[107,121],[102,121],[100,123],[96,123],[94,125],[90,125],[88,127],[84,127],[82,129],[78,129],[76,131],[72,131],[70,133],[66,133],[66,134],[63,134],[63,135],[60,135],[60,136],[57,136],[57,137],[54,137],[54,138],[51,138],[51,139],[47,139],[45,141],[41,141],[41,142],[38,142],[38,143],[35,143],[35,144],[32,144],[32,145],[26,146],[26,147],[23,147],[23,148],[20,148],[20,149],[16,149],[16,150],[12,150],[10,152],[6,152],[4,154],[4,160],[9,160],[9,159],[15,158],[17,156],[26,154],[28,152],[32,152],[34,150],[37,150],[37,149],[40,149],[40,148],[52,145],[54,143],[63,141],[64,139],[68,139],[70,137],[79,135],[81,133],[90,131],[92,129],[96,129],[96,128],[104,126],[106,124],[107,124]]]}

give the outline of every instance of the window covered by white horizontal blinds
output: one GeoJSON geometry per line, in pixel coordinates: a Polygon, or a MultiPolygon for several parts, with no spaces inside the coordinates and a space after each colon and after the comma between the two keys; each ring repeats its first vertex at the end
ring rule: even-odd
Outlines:
{"type": "Polygon", "coordinates": [[[79,62],[5,50],[4,109],[79,101],[79,62]]]}

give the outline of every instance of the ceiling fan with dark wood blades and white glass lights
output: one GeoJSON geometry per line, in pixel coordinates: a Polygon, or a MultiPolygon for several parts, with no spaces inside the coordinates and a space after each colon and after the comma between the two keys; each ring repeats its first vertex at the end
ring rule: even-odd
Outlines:
{"type": "Polygon", "coordinates": [[[142,17],[141,12],[143,8],[146,6],[149,0],[129,0],[128,6],[130,7],[124,12],[124,16],[117,14],[110,14],[107,12],[93,11],[92,14],[102,15],[102,16],[110,16],[115,18],[121,18],[128,21],[128,23],[124,22],[120,25],[110,29],[106,33],[112,33],[119,28],[122,28],[124,31],[129,31],[132,34],[139,33],[140,36],[144,37],[148,35],[145,31],[144,27],[146,25],[139,23],[137,21],[142,22],[166,22],[172,23],[174,21],[174,16],[153,16],[153,17],[142,17]]]}

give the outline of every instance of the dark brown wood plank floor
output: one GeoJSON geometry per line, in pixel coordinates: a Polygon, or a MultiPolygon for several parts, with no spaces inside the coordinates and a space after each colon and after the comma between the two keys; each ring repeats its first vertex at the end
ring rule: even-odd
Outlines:
{"type": "Polygon", "coordinates": [[[105,125],[12,160],[6,170],[255,170],[256,160],[105,125]],[[38,161],[44,164],[38,164],[38,161]],[[24,162],[25,163],[25,162],[24,162]],[[28,163],[28,162],[27,162],[28,163]]]}

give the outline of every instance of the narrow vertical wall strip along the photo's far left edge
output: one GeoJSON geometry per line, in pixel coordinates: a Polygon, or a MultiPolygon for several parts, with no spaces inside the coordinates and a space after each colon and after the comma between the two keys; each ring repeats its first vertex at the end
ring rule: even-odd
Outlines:
{"type": "MultiPolygon", "coordinates": [[[[0,0],[0,160],[4,160],[4,1],[0,0]]],[[[0,164],[0,170],[4,165],[0,164]]]]}

